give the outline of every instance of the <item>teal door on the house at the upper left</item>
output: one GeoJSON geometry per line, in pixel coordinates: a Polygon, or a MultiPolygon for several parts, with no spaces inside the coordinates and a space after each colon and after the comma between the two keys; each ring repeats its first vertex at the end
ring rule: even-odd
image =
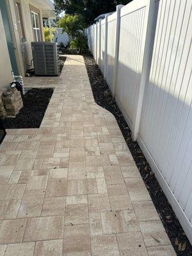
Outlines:
{"type": "Polygon", "coordinates": [[[18,67],[17,67],[17,59],[15,56],[15,45],[13,42],[13,36],[12,31],[10,28],[10,20],[8,17],[8,10],[6,6],[6,0],[0,0],[0,8],[1,8],[1,15],[3,19],[3,26],[4,26],[4,32],[6,35],[6,42],[8,45],[8,51],[10,54],[10,61],[12,63],[12,70],[15,75],[19,75],[18,67]]]}

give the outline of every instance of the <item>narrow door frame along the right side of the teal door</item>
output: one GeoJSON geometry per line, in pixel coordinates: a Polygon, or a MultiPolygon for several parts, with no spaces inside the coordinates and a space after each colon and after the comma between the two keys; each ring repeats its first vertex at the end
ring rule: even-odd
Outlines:
{"type": "Polygon", "coordinates": [[[17,40],[16,40],[15,32],[14,32],[10,2],[8,0],[5,0],[5,3],[6,3],[7,12],[8,12],[8,19],[9,19],[9,22],[10,22],[10,30],[11,30],[11,33],[12,33],[13,44],[15,45],[15,48],[16,48],[15,49],[15,58],[16,58],[16,61],[17,61],[17,69],[18,69],[19,75],[22,76],[22,68],[20,67],[19,52],[18,52],[18,48],[17,48],[18,45],[17,45],[17,40]]]}

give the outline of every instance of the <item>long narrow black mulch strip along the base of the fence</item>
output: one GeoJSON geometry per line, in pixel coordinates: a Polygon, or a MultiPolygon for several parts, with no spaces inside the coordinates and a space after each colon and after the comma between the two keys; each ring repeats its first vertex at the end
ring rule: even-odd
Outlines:
{"type": "Polygon", "coordinates": [[[88,71],[88,77],[92,86],[93,97],[95,102],[102,108],[108,109],[116,118],[118,125],[124,135],[125,141],[131,151],[132,157],[136,162],[138,170],[145,182],[145,185],[150,193],[152,201],[156,206],[157,212],[161,218],[161,221],[166,229],[170,241],[175,248],[175,252],[179,256],[192,255],[192,246],[188,241],[188,237],[184,234],[182,227],[180,226],[177,217],[175,216],[171,205],[169,204],[166,196],[164,195],[159,183],[157,182],[154,173],[152,172],[145,156],[141,152],[141,149],[137,142],[132,141],[131,131],[122,115],[116,101],[113,100],[109,86],[106,83],[100,68],[95,63],[92,54],[84,55],[84,61],[86,69],[88,71]],[[183,251],[182,251],[183,250],[183,251]]]}

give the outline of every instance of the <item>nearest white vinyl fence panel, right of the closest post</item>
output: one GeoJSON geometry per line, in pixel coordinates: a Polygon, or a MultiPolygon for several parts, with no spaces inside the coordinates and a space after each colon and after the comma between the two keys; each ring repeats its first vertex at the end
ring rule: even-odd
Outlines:
{"type": "Polygon", "coordinates": [[[192,240],[191,7],[188,0],[159,1],[140,143],[154,161],[154,172],[192,240]]]}

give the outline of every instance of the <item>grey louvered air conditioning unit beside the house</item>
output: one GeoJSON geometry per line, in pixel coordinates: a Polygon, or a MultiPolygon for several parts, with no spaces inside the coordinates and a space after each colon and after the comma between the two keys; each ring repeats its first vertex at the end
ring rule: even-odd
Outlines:
{"type": "Polygon", "coordinates": [[[36,76],[58,76],[58,44],[49,42],[31,42],[33,63],[36,76]]]}

